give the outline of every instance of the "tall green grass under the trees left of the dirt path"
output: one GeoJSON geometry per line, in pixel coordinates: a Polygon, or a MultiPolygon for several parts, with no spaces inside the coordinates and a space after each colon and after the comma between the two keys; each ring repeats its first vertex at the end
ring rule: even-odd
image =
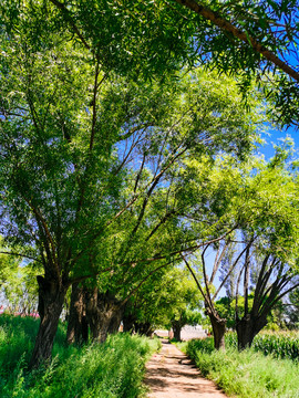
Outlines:
{"type": "Polygon", "coordinates": [[[53,360],[47,369],[25,373],[38,321],[0,317],[1,398],[135,398],[144,395],[144,365],[157,339],[118,334],[104,344],[64,345],[60,325],[53,360]]]}

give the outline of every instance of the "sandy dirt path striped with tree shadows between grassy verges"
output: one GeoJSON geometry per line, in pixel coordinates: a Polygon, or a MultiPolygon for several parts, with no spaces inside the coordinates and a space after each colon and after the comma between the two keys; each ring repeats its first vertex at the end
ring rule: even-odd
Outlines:
{"type": "Polygon", "coordinates": [[[146,365],[148,398],[227,398],[215,384],[200,376],[188,357],[167,341],[146,365]]]}

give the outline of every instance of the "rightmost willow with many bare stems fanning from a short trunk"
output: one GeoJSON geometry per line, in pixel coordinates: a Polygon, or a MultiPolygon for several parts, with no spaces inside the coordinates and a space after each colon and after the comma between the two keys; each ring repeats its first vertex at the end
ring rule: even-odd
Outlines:
{"type": "MultiPolygon", "coordinates": [[[[267,325],[268,315],[299,284],[298,276],[298,174],[287,161],[286,148],[252,181],[248,196],[251,219],[244,216],[246,251],[238,268],[235,315],[238,346],[250,346],[267,325]],[[267,191],[267,195],[265,195],[267,191]],[[248,296],[252,303],[249,306],[248,296]],[[244,296],[244,310],[238,298],[244,296]]],[[[241,250],[241,249],[239,249],[241,250]]]]}

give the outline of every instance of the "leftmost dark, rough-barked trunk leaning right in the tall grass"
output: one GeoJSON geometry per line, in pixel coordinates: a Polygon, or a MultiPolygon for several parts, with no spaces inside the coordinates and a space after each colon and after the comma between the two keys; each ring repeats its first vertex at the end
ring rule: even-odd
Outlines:
{"type": "Polygon", "coordinates": [[[51,359],[53,343],[62,312],[66,287],[59,281],[38,276],[40,327],[29,368],[38,368],[51,359]]]}

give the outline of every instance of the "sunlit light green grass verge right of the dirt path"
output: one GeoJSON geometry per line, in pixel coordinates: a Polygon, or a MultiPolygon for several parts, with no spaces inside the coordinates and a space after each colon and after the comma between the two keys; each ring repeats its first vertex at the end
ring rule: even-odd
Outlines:
{"type": "Polygon", "coordinates": [[[212,339],[183,343],[179,348],[228,396],[299,398],[299,364],[290,359],[276,359],[255,349],[217,352],[212,339]]]}

